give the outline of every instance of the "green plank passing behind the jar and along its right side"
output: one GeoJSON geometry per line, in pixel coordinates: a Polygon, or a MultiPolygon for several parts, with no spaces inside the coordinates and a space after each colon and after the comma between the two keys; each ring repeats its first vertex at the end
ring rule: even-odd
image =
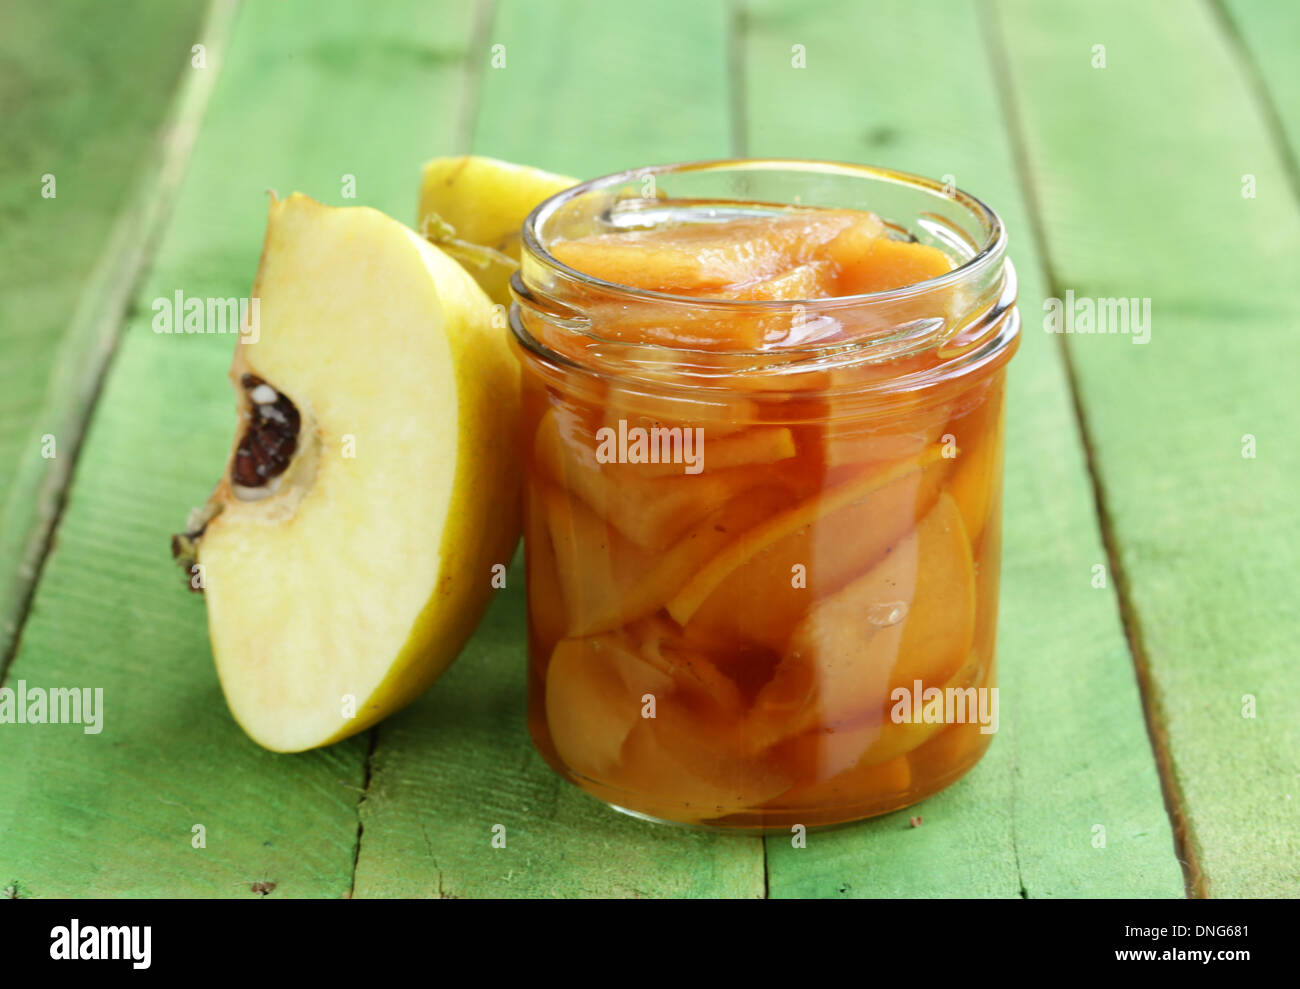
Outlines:
{"type": "Polygon", "coordinates": [[[1105,550],[1065,368],[1037,329],[1043,268],[974,4],[755,0],[744,53],[746,153],[956,177],[1002,214],[1027,317],[1008,399],[1000,737],[911,810],[806,849],[770,838],[771,895],[1182,895],[1114,590],[1091,584],[1105,550]]]}

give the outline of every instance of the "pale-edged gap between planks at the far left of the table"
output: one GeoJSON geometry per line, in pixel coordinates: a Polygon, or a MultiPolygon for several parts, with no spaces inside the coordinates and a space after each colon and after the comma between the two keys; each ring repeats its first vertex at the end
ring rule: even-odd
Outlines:
{"type": "Polygon", "coordinates": [[[199,38],[207,47],[208,68],[190,71],[188,78],[179,81],[172,108],[136,177],[127,205],[113,224],[69,320],[69,331],[58,344],[62,353],[51,374],[46,402],[58,417],[58,434],[66,437],[61,442],[69,454],[51,460],[49,472],[40,483],[36,522],[27,535],[17,594],[8,616],[13,623],[13,633],[0,655],[0,684],[4,684],[22,643],[32,597],[53,548],[55,533],[68,503],[68,490],[77,473],[82,441],[117,352],[135,286],[153,260],[166,218],[176,204],[208,100],[221,71],[237,10],[238,0],[211,0],[204,10],[199,38]]]}

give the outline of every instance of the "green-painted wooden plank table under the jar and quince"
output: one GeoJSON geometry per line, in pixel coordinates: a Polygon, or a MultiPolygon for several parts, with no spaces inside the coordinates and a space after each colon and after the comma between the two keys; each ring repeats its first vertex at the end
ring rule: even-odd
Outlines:
{"type": "Polygon", "coordinates": [[[0,890],[1300,894],[1297,49],[1266,0],[6,3],[0,676],[100,686],[104,725],[0,725],[0,890]],[[1002,213],[1002,729],[968,777],[806,849],[610,812],[529,743],[517,564],[407,711],[243,736],[166,548],[231,338],[152,300],[244,295],[268,187],[411,222],[460,151],[866,161],[1002,213]],[[1067,292],[1149,299],[1149,342],[1045,333],[1067,292]]]}

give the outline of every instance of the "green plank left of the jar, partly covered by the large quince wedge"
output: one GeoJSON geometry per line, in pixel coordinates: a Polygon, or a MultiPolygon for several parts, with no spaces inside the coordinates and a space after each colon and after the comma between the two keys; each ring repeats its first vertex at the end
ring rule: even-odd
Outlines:
{"type": "Polygon", "coordinates": [[[234,338],[155,334],[152,300],[246,295],[268,187],[347,204],[351,175],[355,203],[410,216],[420,161],[455,133],[471,32],[456,3],[240,8],[6,681],[104,691],[100,734],[0,726],[0,881],[21,895],[350,892],[367,739],[248,741],[169,559],[229,450],[234,338]]]}

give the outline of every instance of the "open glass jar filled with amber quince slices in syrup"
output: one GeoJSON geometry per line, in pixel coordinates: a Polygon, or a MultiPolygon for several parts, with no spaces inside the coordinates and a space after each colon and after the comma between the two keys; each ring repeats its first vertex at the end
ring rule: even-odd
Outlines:
{"type": "Polygon", "coordinates": [[[883,169],[720,161],[523,231],[529,726],[628,814],[842,824],[997,729],[1006,234],[883,169]]]}

